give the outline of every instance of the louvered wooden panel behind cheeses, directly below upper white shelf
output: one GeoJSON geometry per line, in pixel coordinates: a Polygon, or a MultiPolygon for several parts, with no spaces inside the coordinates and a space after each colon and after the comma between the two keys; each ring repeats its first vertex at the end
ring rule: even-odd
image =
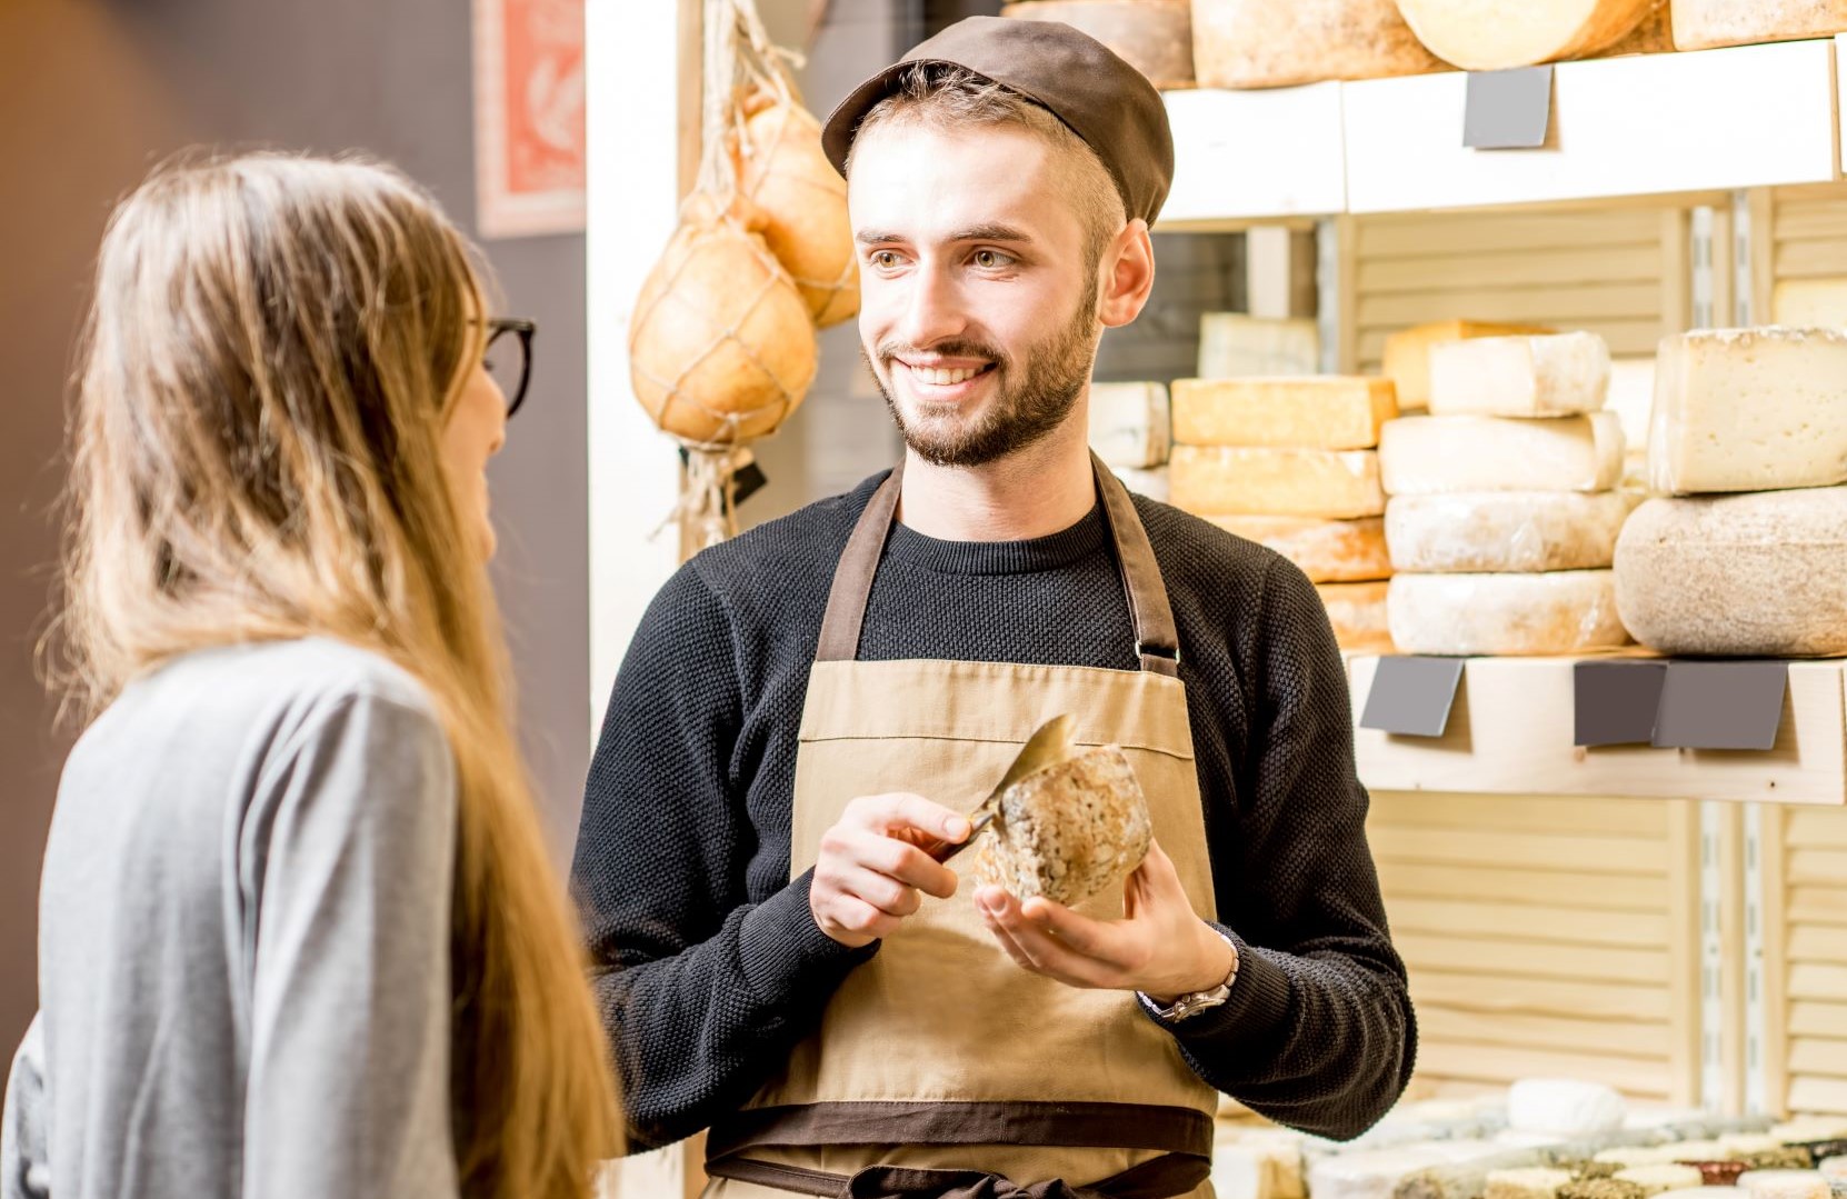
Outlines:
{"type": "Polygon", "coordinates": [[[1588,329],[1620,358],[1653,355],[1686,320],[1684,222],[1681,207],[1348,218],[1341,369],[1376,373],[1389,334],[1454,318],[1588,329]]]}

